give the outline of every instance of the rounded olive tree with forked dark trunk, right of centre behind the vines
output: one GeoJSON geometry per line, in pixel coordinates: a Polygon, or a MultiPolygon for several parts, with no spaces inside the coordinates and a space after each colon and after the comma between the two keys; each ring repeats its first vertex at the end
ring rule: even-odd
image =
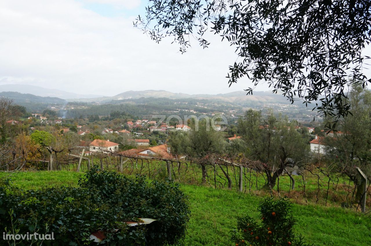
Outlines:
{"type": "Polygon", "coordinates": [[[267,187],[274,187],[277,178],[289,166],[301,165],[309,157],[308,139],[295,129],[287,117],[275,117],[272,112],[263,119],[261,112],[248,110],[238,120],[246,155],[264,163],[267,187]]]}

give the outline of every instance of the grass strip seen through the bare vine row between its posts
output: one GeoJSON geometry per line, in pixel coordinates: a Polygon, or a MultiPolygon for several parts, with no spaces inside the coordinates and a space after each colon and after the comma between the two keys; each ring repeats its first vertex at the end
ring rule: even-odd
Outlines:
{"type": "MultiPolygon", "coordinates": [[[[95,164],[99,164],[99,159],[97,157],[93,159],[95,164]]],[[[107,159],[103,159],[105,169],[117,168],[117,158],[111,157],[111,161],[108,161],[107,159]]],[[[135,174],[142,174],[150,177],[151,179],[167,179],[168,174],[165,162],[158,160],[149,160],[148,162],[147,160],[144,160],[143,162],[141,162],[141,160],[138,160],[138,162],[135,162],[135,160],[132,161],[133,162],[128,161],[124,164],[124,174],[131,176],[135,176],[135,174]]],[[[237,190],[239,180],[238,168],[224,166],[223,169],[228,172],[230,176],[232,181],[232,190],[237,190]]],[[[70,165],[68,170],[76,170],[76,165],[70,165]]],[[[87,170],[87,165],[85,162],[82,164],[82,170],[87,170]]],[[[227,179],[219,167],[216,168],[215,180],[214,168],[212,166],[206,166],[206,171],[207,182],[204,184],[205,187],[216,186],[219,189],[227,189],[227,179]]],[[[200,165],[195,163],[187,162],[187,164],[185,164],[183,162],[180,166],[177,166],[177,163],[173,163],[172,166],[173,180],[186,185],[200,185],[202,183],[201,172],[200,165]]],[[[247,168],[244,168],[243,172],[244,193],[251,193],[255,195],[267,193],[267,191],[262,191],[262,187],[266,183],[265,174],[255,172],[253,170],[250,173],[249,169],[247,168]]],[[[314,174],[306,172],[305,182],[302,179],[302,176],[293,175],[293,178],[296,182],[295,190],[290,190],[291,184],[289,176],[287,174],[282,175],[279,177],[279,182],[276,182],[276,186],[273,188],[272,192],[275,196],[288,196],[290,199],[295,200],[295,202],[299,204],[319,204],[340,207],[341,203],[350,203],[352,192],[354,190],[354,184],[351,182],[349,186],[349,178],[347,176],[331,174],[329,180],[327,176],[318,170],[313,170],[313,173],[314,174]],[[278,183],[279,189],[277,187],[278,183]],[[280,194],[278,194],[278,190],[280,194]]],[[[371,190],[368,193],[367,206],[371,206],[371,190]]]]}

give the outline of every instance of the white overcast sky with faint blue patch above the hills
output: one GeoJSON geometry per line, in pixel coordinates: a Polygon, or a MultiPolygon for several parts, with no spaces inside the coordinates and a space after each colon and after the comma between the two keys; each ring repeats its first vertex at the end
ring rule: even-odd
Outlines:
{"type": "MultiPolygon", "coordinates": [[[[30,84],[79,94],[113,96],[128,90],[227,93],[225,76],[237,56],[210,35],[210,48],[193,41],[178,52],[133,27],[147,1],[0,0],[0,84],[30,84]]],[[[370,54],[369,54],[370,55],[370,54]]],[[[369,73],[369,72],[368,72],[369,73]]],[[[256,91],[269,90],[267,84],[256,91]]]]}

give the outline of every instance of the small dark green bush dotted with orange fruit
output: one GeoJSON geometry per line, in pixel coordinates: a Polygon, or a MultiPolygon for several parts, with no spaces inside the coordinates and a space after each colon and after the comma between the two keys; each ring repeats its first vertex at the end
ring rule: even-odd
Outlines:
{"type": "Polygon", "coordinates": [[[237,218],[237,230],[232,231],[236,246],[304,246],[302,236],[295,236],[295,219],[291,203],[286,199],[274,201],[266,198],[259,205],[260,222],[250,216],[237,218]]]}

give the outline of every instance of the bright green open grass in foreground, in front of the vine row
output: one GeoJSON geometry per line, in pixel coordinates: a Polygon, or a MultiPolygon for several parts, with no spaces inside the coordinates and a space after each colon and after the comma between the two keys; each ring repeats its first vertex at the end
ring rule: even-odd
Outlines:
{"type": "MultiPolygon", "coordinates": [[[[9,176],[14,186],[22,189],[77,186],[83,173],[69,171],[20,172],[9,176]]],[[[180,245],[234,245],[229,232],[236,227],[236,217],[249,214],[259,219],[257,207],[262,196],[237,193],[234,190],[181,184],[189,197],[191,219],[180,245]]],[[[322,205],[293,205],[298,224],[295,230],[314,245],[371,245],[371,217],[349,209],[322,205]]]]}

